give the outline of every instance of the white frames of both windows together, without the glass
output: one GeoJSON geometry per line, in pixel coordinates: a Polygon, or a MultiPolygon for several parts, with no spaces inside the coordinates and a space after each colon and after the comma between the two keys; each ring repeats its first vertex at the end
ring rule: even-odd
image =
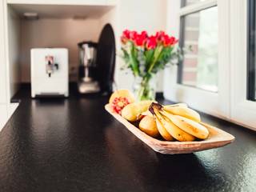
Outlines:
{"type": "Polygon", "coordinates": [[[186,102],[196,110],[236,122],[256,130],[256,102],[247,93],[247,0],[206,0],[180,8],[180,0],[170,0],[167,30],[178,37],[180,15],[218,6],[218,93],[177,83],[178,69],[165,70],[164,96],[186,102]]]}

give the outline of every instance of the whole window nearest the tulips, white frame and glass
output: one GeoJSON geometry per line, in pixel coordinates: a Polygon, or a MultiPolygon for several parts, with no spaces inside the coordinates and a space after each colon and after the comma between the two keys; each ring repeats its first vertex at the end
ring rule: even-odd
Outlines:
{"type": "Polygon", "coordinates": [[[168,2],[167,32],[185,50],[182,63],[165,70],[165,97],[230,118],[230,0],[168,2]]]}

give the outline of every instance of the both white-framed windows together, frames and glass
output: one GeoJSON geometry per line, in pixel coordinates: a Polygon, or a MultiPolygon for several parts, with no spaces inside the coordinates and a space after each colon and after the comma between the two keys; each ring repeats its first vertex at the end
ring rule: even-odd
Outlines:
{"type": "Polygon", "coordinates": [[[170,0],[168,7],[168,32],[192,51],[165,70],[165,97],[256,130],[255,0],[170,0]]]}

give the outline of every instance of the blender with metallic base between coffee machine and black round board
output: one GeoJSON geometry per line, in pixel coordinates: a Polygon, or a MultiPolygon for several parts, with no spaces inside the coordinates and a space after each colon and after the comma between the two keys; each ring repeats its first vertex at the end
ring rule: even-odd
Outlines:
{"type": "Polygon", "coordinates": [[[96,81],[96,47],[95,42],[79,42],[79,77],[78,91],[80,94],[98,93],[100,88],[96,81]]]}

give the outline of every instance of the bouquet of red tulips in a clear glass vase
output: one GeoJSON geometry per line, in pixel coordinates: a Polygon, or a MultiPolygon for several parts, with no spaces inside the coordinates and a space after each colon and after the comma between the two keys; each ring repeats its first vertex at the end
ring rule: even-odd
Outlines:
{"type": "Polygon", "coordinates": [[[136,31],[124,30],[121,42],[126,68],[132,70],[137,82],[134,91],[138,100],[154,99],[154,87],[150,86],[150,80],[172,58],[178,58],[178,50],[174,49],[178,40],[163,31],[148,35],[146,31],[139,34],[136,31]]]}

